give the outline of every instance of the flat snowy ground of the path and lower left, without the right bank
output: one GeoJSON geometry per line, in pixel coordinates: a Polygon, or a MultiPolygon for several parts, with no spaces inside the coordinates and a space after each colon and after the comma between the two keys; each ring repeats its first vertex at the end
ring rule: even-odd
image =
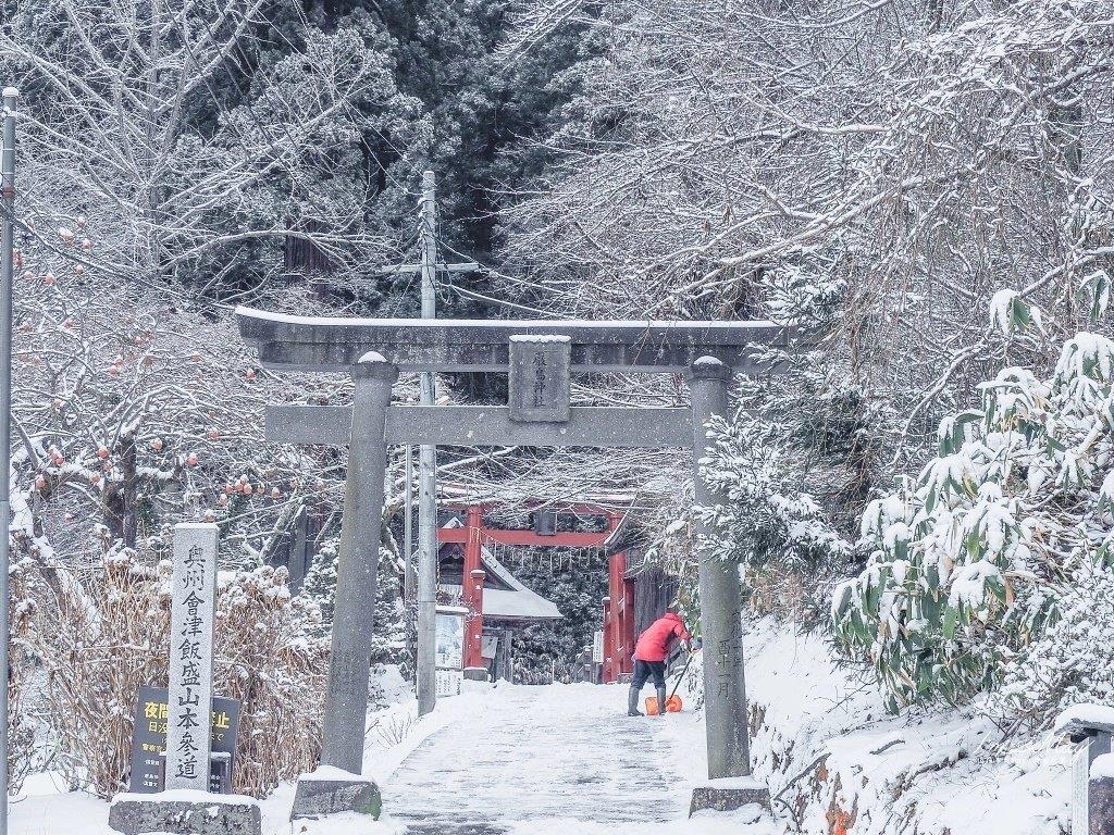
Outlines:
{"type": "MultiPolygon", "coordinates": [[[[753,809],[687,819],[703,776],[700,717],[626,716],[625,687],[475,686],[417,719],[412,699],[371,717],[364,773],[388,821],[330,821],[330,835],[773,835],[753,809]],[[698,745],[694,745],[698,743],[698,745]]],[[[263,802],[264,832],[289,835],[293,786],[263,802]]],[[[108,804],[31,780],[12,807],[12,835],[107,835],[108,804]]],[[[299,831],[302,832],[301,824],[299,831]]]]}

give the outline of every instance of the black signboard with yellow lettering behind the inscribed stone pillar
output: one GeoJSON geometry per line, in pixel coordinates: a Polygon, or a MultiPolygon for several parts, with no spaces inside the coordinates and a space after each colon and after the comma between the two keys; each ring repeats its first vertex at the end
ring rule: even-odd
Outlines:
{"type": "MultiPolygon", "coordinates": [[[[136,794],[154,794],[165,788],[166,723],[169,719],[165,687],[140,687],[136,704],[136,727],[131,735],[131,785],[136,794]]],[[[240,703],[235,699],[213,697],[213,754],[225,755],[215,759],[227,762],[227,774],[236,757],[236,735],[240,730],[240,703]]],[[[209,769],[209,792],[221,794],[219,762],[209,769]]]]}

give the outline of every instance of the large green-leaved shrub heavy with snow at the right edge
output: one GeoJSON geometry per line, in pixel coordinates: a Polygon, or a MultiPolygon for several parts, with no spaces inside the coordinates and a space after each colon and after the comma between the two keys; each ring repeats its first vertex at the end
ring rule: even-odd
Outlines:
{"type": "MultiPolygon", "coordinates": [[[[837,589],[832,615],[891,708],[993,688],[1044,635],[1053,646],[1033,651],[1061,651],[1072,619],[1058,638],[1046,630],[1077,611],[1102,577],[1089,567],[1111,558],[1112,381],[1114,342],[1094,333],[1069,340],[1047,379],[1001,371],[981,384],[980,411],[940,424],[939,454],[920,477],[870,503],[869,564],[837,589]]],[[[1072,685],[1069,675],[1049,681],[1019,704],[1053,704],[1072,685]]]]}

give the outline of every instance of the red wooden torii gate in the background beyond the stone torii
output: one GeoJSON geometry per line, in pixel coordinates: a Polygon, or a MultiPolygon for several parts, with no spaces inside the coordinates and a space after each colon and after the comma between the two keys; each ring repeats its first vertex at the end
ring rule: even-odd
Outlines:
{"type": "MultiPolygon", "coordinates": [[[[504,546],[527,546],[541,548],[604,548],[613,544],[615,532],[623,522],[624,514],[595,504],[568,504],[559,510],[580,515],[607,518],[607,530],[598,532],[537,530],[507,530],[488,528],[483,514],[497,505],[448,503],[465,514],[462,528],[438,528],[437,538],[441,544],[463,546],[465,564],[461,572],[463,603],[472,612],[465,626],[465,668],[482,668],[483,664],[483,583],[486,572],[481,562],[485,542],[504,546]]],[[[604,665],[605,682],[616,681],[632,672],[634,662],[634,580],[626,574],[626,551],[614,551],[608,558],[607,597],[604,598],[604,665]]]]}

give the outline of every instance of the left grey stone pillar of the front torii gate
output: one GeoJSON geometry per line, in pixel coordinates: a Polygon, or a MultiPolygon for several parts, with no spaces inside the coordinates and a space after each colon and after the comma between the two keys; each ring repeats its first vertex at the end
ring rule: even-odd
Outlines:
{"type": "Polygon", "coordinates": [[[355,394],[321,754],[325,765],[352,774],[360,774],[363,763],[375,571],[387,474],[383,425],[391,385],[398,375],[398,369],[374,352],[364,354],[352,366],[355,394]]]}

